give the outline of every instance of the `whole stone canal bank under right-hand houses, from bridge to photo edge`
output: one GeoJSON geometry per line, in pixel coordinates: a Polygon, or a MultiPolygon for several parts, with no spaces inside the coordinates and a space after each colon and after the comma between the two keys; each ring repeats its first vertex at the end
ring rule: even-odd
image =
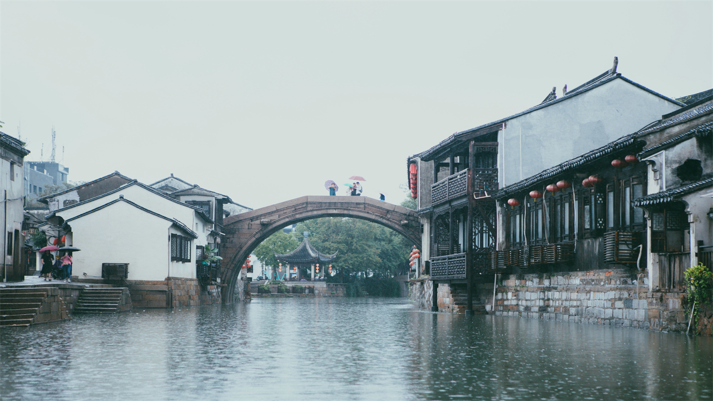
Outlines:
{"type": "MultiPolygon", "coordinates": [[[[430,310],[433,282],[421,278],[410,285],[409,298],[430,310]]],[[[465,288],[464,280],[438,283],[438,311],[462,313],[465,306],[456,294],[465,288]]],[[[476,280],[475,288],[476,303],[495,315],[708,336],[713,328],[711,308],[689,328],[684,290],[650,291],[646,275],[630,270],[497,275],[476,280]]]]}

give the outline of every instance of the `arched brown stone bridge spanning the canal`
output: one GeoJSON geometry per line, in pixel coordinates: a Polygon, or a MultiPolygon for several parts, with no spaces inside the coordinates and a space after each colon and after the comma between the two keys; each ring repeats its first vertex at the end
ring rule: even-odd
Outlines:
{"type": "Polygon", "coordinates": [[[365,196],[302,196],[275,205],[231,215],[223,220],[222,302],[232,303],[240,268],[257,245],[287,225],[321,217],[350,217],[384,225],[421,245],[415,210],[365,196]]]}

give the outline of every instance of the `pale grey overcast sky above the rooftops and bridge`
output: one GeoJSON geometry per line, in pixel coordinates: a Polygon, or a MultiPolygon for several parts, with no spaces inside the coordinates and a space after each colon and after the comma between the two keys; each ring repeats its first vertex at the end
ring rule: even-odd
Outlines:
{"type": "Polygon", "coordinates": [[[71,181],[174,173],[259,208],[359,175],[399,203],[408,156],[614,56],[665,96],[712,88],[712,4],[4,0],[1,129],[48,161],[54,126],[71,181]]]}

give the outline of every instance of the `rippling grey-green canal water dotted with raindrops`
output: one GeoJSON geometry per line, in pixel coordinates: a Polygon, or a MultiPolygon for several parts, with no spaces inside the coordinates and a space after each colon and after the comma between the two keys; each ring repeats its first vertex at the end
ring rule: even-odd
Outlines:
{"type": "Polygon", "coordinates": [[[0,331],[1,400],[712,400],[711,337],[272,298],[0,331]]]}

